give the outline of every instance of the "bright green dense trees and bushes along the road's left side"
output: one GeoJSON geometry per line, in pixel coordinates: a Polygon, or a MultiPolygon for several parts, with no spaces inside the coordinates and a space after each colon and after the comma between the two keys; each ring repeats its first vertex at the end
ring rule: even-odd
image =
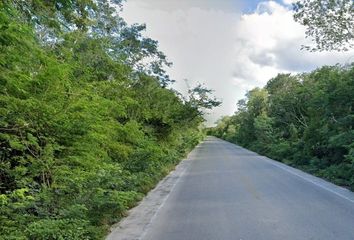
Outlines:
{"type": "Polygon", "coordinates": [[[0,1],[0,239],[102,239],[201,138],[120,1],[0,1]]]}

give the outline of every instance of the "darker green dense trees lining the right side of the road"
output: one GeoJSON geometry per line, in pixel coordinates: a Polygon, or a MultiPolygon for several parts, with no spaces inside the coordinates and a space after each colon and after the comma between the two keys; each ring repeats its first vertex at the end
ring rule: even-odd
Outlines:
{"type": "Polygon", "coordinates": [[[354,190],[354,65],[279,74],[210,134],[354,190]]]}

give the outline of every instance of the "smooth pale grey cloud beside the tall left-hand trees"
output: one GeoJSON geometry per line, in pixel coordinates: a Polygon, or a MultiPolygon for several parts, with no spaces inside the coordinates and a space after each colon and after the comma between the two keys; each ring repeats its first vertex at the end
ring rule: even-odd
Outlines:
{"type": "Polygon", "coordinates": [[[232,114],[236,105],[234,93],[238,89],[231,77],[234,23],[240,17],[236,8],[234,11],[227,8],[233,1],[224,0],[221,6],[211,0],[168,1],[175,9],[160,2],[152,1],[153,6],[147,7],[142,0],[128,1],[123,17],[129,23],[147,23],[146,35],[157,39],[160,49],[173,62],[169,74],[177,81],[175,88],[185,92],[184,79],[189,79],[190,85],[205,83],[215,90],[217,98],[223,99],[222,107],[207,116],[210,122],[220,115],[232,114]]]}

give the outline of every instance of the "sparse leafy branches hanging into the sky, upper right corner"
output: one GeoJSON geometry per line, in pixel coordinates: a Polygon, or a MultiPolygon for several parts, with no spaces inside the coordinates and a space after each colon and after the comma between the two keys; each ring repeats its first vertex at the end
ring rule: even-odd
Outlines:
{"type": "Polygon", "coordinates": [[[354,47],[353,0],[302,0],[294,5],[295,21],[306,26],[315,46],[310,51],[348,51],[354,47]]]}

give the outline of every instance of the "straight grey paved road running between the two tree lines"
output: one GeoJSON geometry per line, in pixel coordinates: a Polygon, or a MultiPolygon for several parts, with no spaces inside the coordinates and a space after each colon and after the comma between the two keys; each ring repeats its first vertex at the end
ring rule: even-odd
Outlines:
{"type": "Polygon", "coordinates": [[[354,240],[354,194],[208,138],[142,240],[354,240]]]}

